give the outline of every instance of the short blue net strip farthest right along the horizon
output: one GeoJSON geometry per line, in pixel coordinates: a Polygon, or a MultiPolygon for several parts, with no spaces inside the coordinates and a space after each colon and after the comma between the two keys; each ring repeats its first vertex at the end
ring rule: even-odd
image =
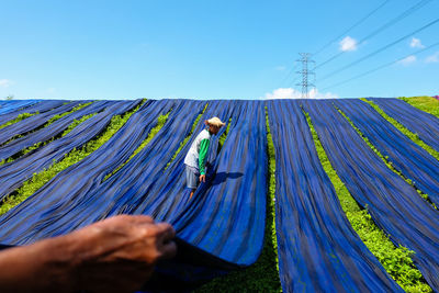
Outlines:
{"type": "MultiPolygon", "coordinates": [[[[439,120],[398,99],[369,99],[376,103],[389,116],[416,133],[427,145],[439,151],[439,120]]],[[[439,105],[437,105],[439,106],[439,105]]]]}

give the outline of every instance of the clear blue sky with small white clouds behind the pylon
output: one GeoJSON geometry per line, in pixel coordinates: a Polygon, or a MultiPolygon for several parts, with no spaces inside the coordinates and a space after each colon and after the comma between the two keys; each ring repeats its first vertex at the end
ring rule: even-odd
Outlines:
{"type": "Polygon", "coordinates": [[[295,98],[299,53],[317,52],[384,2],[313,56],[318,66],[344,52],[317,68],[311,95],[439,94],[439,45],[413,55],[439,42],[439,22],[333,74],[437,20],[439,0],[362,44],[419,1],[0,0],[0,99],[295,98]]]}

